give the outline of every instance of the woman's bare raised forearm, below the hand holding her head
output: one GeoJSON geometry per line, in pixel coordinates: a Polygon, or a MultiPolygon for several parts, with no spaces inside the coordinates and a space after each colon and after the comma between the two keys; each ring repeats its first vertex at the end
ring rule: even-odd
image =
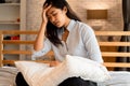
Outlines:
{"type": "Polygon", "coordinates": [[[46,31],[47,23],[42,23],[38,35],[36,38],[34,49],[40,51],[43,48],[43,40],[44,40],[44,31],[46,31]]]}

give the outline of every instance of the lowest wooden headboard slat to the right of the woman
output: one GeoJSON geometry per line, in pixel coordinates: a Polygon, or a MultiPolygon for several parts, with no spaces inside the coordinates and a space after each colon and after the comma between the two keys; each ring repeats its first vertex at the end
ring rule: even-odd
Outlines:
{"type": "Polygon", "coordinates": [[[106,67],[121,67],[121,68],[130,68],[130,63],[125,62],[104,62],[106,67]]]}

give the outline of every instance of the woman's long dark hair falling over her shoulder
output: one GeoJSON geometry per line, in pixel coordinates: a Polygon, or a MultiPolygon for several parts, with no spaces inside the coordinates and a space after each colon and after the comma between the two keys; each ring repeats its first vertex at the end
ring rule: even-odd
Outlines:
{"type": "MultiPolygon", "coordinates": [[[[75,19],[75,20],[79,20],[80,18],[75,14],[75,12],[70,9],[69,4],[67,3],[66,0],[46,0],[43,5],[52,5],[56,9],[61,9],[63,10],[64,6],[67,8],[67,17],[70,19],[75,19]]],[[[47,33],[46,37],[55,45],[58,46],[60,44],[62,44],[61,40],[58,39],[58,33],[57,33],[58,28],[55,27],[51,22],[48,22],[47,25],[47,33]]]]}

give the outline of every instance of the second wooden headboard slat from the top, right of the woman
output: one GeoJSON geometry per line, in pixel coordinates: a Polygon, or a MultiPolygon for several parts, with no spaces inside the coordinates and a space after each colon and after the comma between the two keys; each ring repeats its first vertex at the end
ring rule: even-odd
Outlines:
{"type": "Polygon", "coordinates": [[[130,42],[99,42],[100,46],[130,46],[130,42]]]}

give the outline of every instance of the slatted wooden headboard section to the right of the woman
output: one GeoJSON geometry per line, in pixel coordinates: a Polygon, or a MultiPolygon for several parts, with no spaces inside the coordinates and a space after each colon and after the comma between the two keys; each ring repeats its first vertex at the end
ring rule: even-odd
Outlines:
{"type": "MultiPolygon", "coordinates": [[[[120,37],[120,35],[130,35],[130,31],[95,31],[96,37],[120,37]]],[[[120,46],[130,46],[130,42],[120,42],[119,41],[103,41],[99,42],[102,56],[105,60],[104,64],[108,68],[130,68],[129,62],[116,62],[116,58],[127,58],[130,57],[130,53],[118,52],[120,46]],[[105,47],[105,51],[104,51],[105,47]],[[114,59],[113,61],[110,59],[114,59]]]]}

